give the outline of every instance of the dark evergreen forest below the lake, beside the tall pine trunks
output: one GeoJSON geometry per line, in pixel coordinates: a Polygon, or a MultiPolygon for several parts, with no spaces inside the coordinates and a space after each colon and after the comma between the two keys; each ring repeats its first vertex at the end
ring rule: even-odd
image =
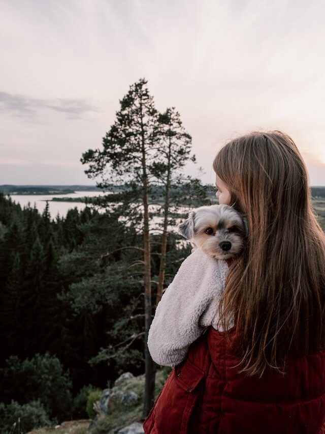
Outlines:
{"type": "MultiPolygon", "coordinates": [[[[86,392],[144,372],[142,234],[119,217],[86,207],[51,219],[48,205],[0,193],[0,414],[14,402],[52,424],[87,417],[86,392]]],[[[166,282],[189,254],[179,239],[168,238],[166,282]]]]}

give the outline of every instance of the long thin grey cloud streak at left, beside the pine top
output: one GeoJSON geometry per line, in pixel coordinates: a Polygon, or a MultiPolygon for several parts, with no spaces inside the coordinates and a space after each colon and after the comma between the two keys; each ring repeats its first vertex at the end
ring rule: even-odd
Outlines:
{"type": "Polygon", "coordinates": [[[70,118],[79,118],[90,111],[100,111],[98,107],[85,99],[39,99],[20,94],[0,92],[0,110],[7,111],[18,117],[35,117],[42,109],[60,111],[68,114],[70,118]]]}

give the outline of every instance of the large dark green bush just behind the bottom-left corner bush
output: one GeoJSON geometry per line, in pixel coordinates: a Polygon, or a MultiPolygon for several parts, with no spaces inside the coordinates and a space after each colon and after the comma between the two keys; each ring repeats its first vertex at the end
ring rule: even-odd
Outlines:
{"type": "Polygon", "coordinates": [[[61,362],[46,353],[32,359],[7,359],[7,367],[0,369],[0,389],[7,402],[15,399],[20,404],[39,399],[51,419],[71,418],[72,397],[69,372],[63,372],[61,362]]]}

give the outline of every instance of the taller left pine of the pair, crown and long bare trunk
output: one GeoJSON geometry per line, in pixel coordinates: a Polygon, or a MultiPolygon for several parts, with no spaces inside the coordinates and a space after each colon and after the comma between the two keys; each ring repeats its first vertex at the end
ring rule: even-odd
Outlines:
{"type": "MultiPolygon", "coordinates": [[[[140,79],[132,84],[128,93],[120,100],[116,121],[103,138],[103,150],[88,150],[82,163],[89,168],[89,177],[101,176],[98,184],[108,188],[112,181],[122,182],[127,187],[128,201],[141,198],[143,209],[143,282],[145,300],[145,400],[143,417],[153,405],[154,363],[147,348],[148,331],[151,325],[151,258],[149,236],[149,193],[150,166],[157,158],[159,137],[156,135],[157,110],[149,94],[147,81],[140,79]]],[[[120,197],[123,194],[120,195],[120,197]]],[[[130,205],[131,206],[131,205],[130,205]]],[[[137,207],[133,209],[139,218],[137,207]]],[[[128,213],[130,217],[131,213],[128,213]]],[[[137,218],[136,217],[136,218],[137,218]]]]}

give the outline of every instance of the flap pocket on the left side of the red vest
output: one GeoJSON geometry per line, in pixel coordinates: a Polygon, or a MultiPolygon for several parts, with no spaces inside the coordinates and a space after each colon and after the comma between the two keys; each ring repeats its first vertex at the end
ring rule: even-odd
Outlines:
{"type": "Polygon", "coordinates": [[[204,371],[188,360],[175,366],[145,421],[145,433],[185,434],[203,377],[204,371]]]}

